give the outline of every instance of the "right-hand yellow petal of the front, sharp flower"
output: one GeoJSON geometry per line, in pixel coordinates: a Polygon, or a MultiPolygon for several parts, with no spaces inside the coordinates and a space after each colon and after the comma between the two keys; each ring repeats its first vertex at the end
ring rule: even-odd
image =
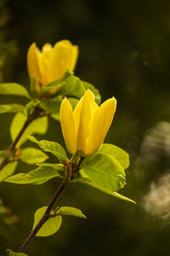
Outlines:
{"type": "Polygon", "coordinates": [[[96,111],[90,136],[88,138],[88,149],[85,154],[99,151],[107,131],[111,126],[116,111],[116,99],[113,97],[105,101],[96,111]]]}

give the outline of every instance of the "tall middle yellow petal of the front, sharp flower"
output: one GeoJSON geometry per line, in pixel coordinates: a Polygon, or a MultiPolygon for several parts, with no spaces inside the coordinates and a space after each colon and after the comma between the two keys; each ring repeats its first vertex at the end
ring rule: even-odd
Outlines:
{"type": "Polygon", "coordinates": [[[77,149],[82,149],[85,153],[87,148],[88,136],[91,131],[91,125],[94,115],[94,93],[87,90],[82,97],[82,102],[77,106],[74,113],[75,123],[77,127],[77,149]]]}

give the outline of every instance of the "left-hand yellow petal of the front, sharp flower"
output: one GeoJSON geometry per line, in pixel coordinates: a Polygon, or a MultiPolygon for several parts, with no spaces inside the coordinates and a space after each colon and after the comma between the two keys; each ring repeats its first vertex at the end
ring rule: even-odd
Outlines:
{"type": "Polygon", "coordinates": [[[60,106],[60,124],[65,145],[71,154],[76,152],[76,134],[71,103],[65,98],[60,106]]]}

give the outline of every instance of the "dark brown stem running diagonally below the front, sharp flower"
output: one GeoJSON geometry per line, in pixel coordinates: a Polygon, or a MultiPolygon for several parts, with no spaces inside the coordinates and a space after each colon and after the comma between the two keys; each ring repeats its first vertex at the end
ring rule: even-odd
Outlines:
{"type": "Polygon", "coordinates": [[[34,228],[34,230],[31,230],[31,234],[30,236],[27,237],[26,241],[24,242],[24,244],[22,245],[22,247],[20,248],[19,253],[25,253],[26,248],[29,246],[29,244],[31,243],[32,239],[36,236],[38,230],[41,229],[42,225],[48,220],[48,218],[51,218],[51,210],[53,209],[55,203],[58,201],[59,196],[63,193],[63,191],[66,189],[66,187],[68,186],[68,182],[65,180],[63,181],[60,186],[59,189],[57,190],[57,192],[54,195],[54,198],[52,199],[52,201],[49,203],[48,208],[46,210],[46,212],[43,214],[42,218],[40,219],[40,221],[38,222],[38,224],[36,225],[36,227],[34,228]]]}

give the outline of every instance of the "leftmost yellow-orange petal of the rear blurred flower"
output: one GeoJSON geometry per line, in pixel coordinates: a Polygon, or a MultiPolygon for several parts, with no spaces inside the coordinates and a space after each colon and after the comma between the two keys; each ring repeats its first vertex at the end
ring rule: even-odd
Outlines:
{"type": "Polygon", "coordinates": [[[40,58],[41,53],[37,48],[36,43],[31,44],[27,53],[27,67],[29,76],[31,77],[32,75],[34,75],[37,79],[37,82],[40,82],[42,78],[40,58]]]}

